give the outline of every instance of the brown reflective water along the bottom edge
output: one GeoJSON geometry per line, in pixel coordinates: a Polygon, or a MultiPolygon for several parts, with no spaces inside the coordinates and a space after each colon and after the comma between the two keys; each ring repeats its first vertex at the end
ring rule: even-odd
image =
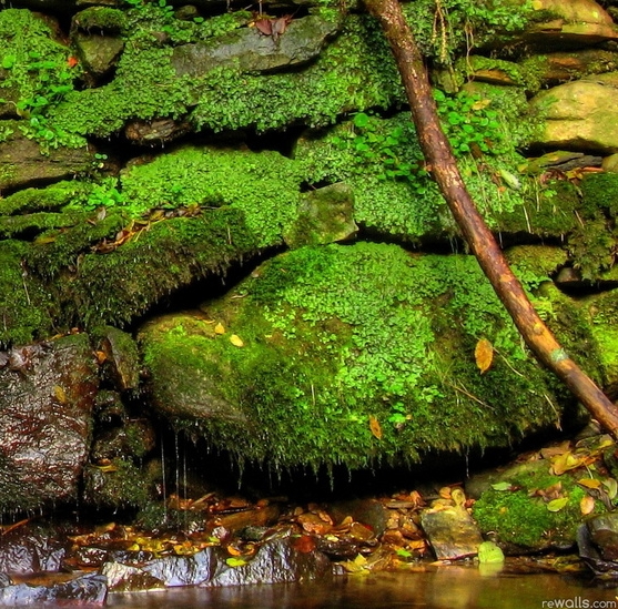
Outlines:
{"type": "Polygon", "coordinates": [[[376,574],[302,585],[175,589],[144,595],[111,595],[122,609],[618,609],[618,589],[557,575],[483,577],[478,569],[448,567],[434,572],[376,574]],[[595,602],[599,602],[594,605],[595,602]]]}

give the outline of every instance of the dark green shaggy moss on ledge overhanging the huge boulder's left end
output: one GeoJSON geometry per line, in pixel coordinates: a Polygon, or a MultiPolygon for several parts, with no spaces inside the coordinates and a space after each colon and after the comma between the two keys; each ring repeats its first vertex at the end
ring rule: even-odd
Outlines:
{"type": "Polygon", "coordinates": [[[124,325],[162,297],[223,273],[231,261],[256,248],[242,212],[205,211],[197,217],[153,224],[111,254],[87,253],[60,291],[69,309],[88,326],[124,325]]]}

